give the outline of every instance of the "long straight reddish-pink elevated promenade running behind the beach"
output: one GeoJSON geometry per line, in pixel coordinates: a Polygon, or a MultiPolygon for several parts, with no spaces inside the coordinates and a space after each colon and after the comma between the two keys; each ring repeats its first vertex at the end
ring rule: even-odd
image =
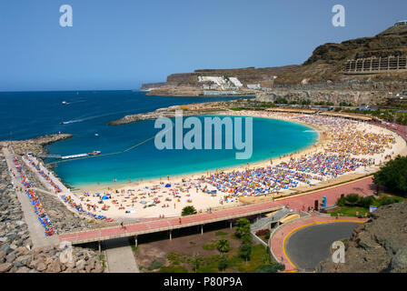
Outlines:
{"type": "Polygon", "coordinates": [[[168,218],[140,222],[126,225],[125,229],[121,226],[104,227],[84,232],[75,232],[59,235],[60,241],[70,241],[73,244],[83,244],[87,242],[104,241],[116,237],[138,236],[143,234],[155,233],[160,231],[171,231],[173,229],[184,228],[188,226],[204,226],[218,221],[233,220],[244,216],[255,216],[280,209],[282,206],[289,206],[294,210],[301,211],[308,206],[313,207],[314,200],[321,202],[322,197],[326,196],[327,205],[333,206],[336,199],[342,194],[357,193],[361,196],[372,195],[374,192],[372,177],[366,177],[358,181],[344,183],[341,186],[332,186],[323,190],[316,190],[310,193],[299,194],[291,197],[280,198],[276,201],[255,204],[250,206],[237,206],[234,208],[219,210],[213,213],[204,213],[194,216],[184,216],[181,218],[168,218]]]}

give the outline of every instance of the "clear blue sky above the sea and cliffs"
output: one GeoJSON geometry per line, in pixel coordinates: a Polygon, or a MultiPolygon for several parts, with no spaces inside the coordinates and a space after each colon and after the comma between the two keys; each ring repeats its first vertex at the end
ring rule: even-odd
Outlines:
{"type": "Polygon", "coordinates": [[[405,0],[0,0],[0,91],[137,89],[200,68],[302,64],[380,33],[405,0]],[[61,27],[61,5],[73,27],[61,27]],[[332,25],[333,5],[346,26],[332,25]]]}

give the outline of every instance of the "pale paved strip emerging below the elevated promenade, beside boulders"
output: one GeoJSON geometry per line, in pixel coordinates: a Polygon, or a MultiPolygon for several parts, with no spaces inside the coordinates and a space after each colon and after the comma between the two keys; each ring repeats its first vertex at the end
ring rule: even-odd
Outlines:
{"type": "Polygon", "coordinates": [[[140,273],[128,238],[104,241],[109,273],[140,273]]]}

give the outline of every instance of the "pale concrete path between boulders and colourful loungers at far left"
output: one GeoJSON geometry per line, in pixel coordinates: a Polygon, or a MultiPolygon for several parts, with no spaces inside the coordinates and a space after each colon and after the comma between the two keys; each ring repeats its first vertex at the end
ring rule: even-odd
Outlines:
{"type": "MultiPolygon", "coordinates": [[[[5,161],[8,168],[16,174],[17,169],[15,168],[12,155],[5,147],[3,153],[5,155],[5,161]]],[[[17,176],[12,176],[12,180],[15,186],[23,187],[24,189],[24,186],[21,184],[20,179],[17,176]]],[[[33,247],[58,246],[58,236],[45,236],[45,228],[39,222],[38,216],[35,214],[34,207],[25,192],[17,190],[15,193],[20,201],[21,208],[23,209],[25,222],[28,226],[28,231],[30,232],[33,247]]]]}

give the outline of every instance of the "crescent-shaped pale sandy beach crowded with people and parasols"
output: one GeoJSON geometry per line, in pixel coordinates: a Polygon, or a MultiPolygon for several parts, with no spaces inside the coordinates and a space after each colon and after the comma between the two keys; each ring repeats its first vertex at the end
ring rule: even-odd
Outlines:
{"type": "MultiPolygon", "coordinates": [[[[219,208],[239,206],[242,204],[242,197],[270,196],[270,199],[272,199],[273,197],[288,196],[299,191],[306,191],[307,189],[312,189],[319,185],[329,185],[335,180],[340,180],[342,182],[352,179],[355,176],[366,176],[377,171],[379,169],[379,165],[382,164],[386,159],[402,153],[406,147],[405,141],[401,136],[396,135],[392,133],[392,131],[385,128],[363,124],[362,122],[341,121],[342,124],[340,125],[322,125],[321,121],[310,122],[307,121],[307,118],[309,117],[302,117],[302,115],[281,113],[272,114],[257,111],[235,112],[234,114],[228,112],[225,113],[225,115],[257,116],[297,122],[313,127],[318,131],[319,138],[313,146],[309,146],[300,152],[281,156],[280,158],[273,158],[273,166],[270,160],[266,160],[250,165],[218,169],[212,172],[201,172],[182,176],[169,176],[169,178],[163,177],[161,179],[149,179],[142,182],[139,181],[127,184],[112,183],[111,185],[100,186],[88,185],[79,190],[68,192],[68,194],[72,197],[75,203],[82,205],[85,210],[98,215],[108,216],[110,218],[114,218],[115,220],[180,216],[184,206],[194,206],[198,212],[214,211],[219,208]],[[348,160],[342,161],[340,159],[339,161],[334,161],[332,163],[339,163],[338,165],[351,165],[352,163],[355,163],[355,165],[358,166],[353,168],[351,165],[349,169],[346,169],[345,173],[339,171],[341,173],[337,176],[336,174],[333,174],[334,176],[330,176],[331,174],[321,176],[321,173],[318,174],[316,172],[316,174],[303,174],[303,172],[295,172],[293,169],[291,169],[292,175],[295,172],[294,175],[296,176],[293,178],[287,178],[285,176],[287,175],[286,169],[278,167],[280,165],[290,166],[291,163],[294,165],[297,163],[298,165],[302,166],[302,163],[307,163],[307,158],[313,159],[314,161],[319,161],[323,156],[328,156],[327,153],[335,152],[333,147],[335,147],[335,145],[338,147],[338,143],[343,144],[343,141],[341,142],[335,140],[335,138],[340,138],[342,135],[340,132],[342,130],[341,126],[345,125],[348,126],[347,128],[352,129],[350,131],[354,131],[353,134],[355,136],[367,136],[367,139],[363,139],[364,137],[362,138],[362,142],[371,143],[368,137],[372,136],[378,138],[378,140],[381,140],[385,145],[352,145],[352,148],[354,148],[354,153],[346,157],[348,160]],[[337,128],[338,132],[333,131],[333,127],[337,128]],[[369,149],[371,147],[373,149],[369,149]],[[266,173],[275,167],[279,171],[277,172],[278,175],[284,175],[282,180],[285,182],[283,182],[283,186],[279,184],[281,182],[278,182],[278,185],[276,186],[269,185],[268,190],[263,191],[263,193],[251,193],[250,191],[254,189],[253,186],[252,188],[249,188],[249,190],[244,187],[245,192],[239,192],[239,189],[242,189],[240,188],[241,185],[239,184],[239,180],[236,180],[237,182],[233,182],[236,184],[235,190],[232,189],[233,187],[225,190],[219,186],[219,183],[227,184],[227,182],[225,182],[227,181],[227,178],[225,179],[224,176],[243,176],[244,180],[245,171],[249,171],[250,173],[263,171],[266,173]],[[216,194],[209,194],[211,190],[215,190],[216,194]]],[[[321,120],[325,120],[322,118],[326,118],[326,120],[330,122],[335,122],[335,118],[333,117],[318,118],[321,120]]],[[[352,143],[352,138],[348,139],[349,143],[352,143]]],[[[343,155],[341,152],[338,152],[337,154],[339,156],[343,155]]],[[[332,156],[329,156],[329,158],[332,158],[332,156]]],[[[264,173],[262,175],[265,175],[264,173]]],[[[248,184],[248,182],[246,181],[245,184],[248,184]]],[[[257,182],[255,184],[257,185],[257,182]]],[[[63,187],[63,184],[61,183],[60,186],[63,187]]],[[[258,186],[259,185],[256,187],[258,186]]],[[[264,186],[261,185],[261,187],[264,186]]]]}

